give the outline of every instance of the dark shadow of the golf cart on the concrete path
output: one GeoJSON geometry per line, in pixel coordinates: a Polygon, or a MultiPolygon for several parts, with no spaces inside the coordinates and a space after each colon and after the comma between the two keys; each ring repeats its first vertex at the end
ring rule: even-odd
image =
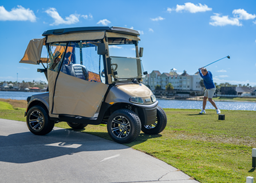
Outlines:
{"type": "Polygon", "coordinates": [[[68,129],[53,130],[45,136],[22,132],[0,136],[0,161],[26,164],[80,152],[127,148],[116,142],[68,129]]]}

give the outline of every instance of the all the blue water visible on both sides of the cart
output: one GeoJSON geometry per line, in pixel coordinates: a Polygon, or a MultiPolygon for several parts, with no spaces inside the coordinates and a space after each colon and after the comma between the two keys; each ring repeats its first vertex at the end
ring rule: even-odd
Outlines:
{"type": "MultiPolygon", "coordinates": [[[[38,92],[4,92],[0,91],[0,98],[11,98],[15,100],[26,100],[27,97],[38,92]]],[[[186,100],[158,100],[162,108],[173,109],[202,109],[203,101],[186,100]]],[[[215,101],[220,110],[256,110],[256,102],[219,102],[215,101]]],[[[207,101],[206,109],[214,109],[207,101]]]]}

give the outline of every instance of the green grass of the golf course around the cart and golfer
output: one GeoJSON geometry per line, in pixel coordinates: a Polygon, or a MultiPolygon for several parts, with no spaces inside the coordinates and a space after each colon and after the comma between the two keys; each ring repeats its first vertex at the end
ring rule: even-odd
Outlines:
{"type": "MultiPolygon", "coordinates": [[[[246,182],[247,176],[256,177],[251,168],[251,149],[256,147],[254,111],[222,110],[226,120],[220,121],[215,110],[203,115],[192,109],[164,110],[168,123],[162,133],[141,132],[125,145],[159,158],[199,182],[246,182]]],[[[0,110],[0,118],[25,121],[24,112],[0,110]]],[[[56,126],[70,128],[65,122],[56,126]]],[[[107,125],[88,125],[81,131],[111,140],[107,125]]]]}

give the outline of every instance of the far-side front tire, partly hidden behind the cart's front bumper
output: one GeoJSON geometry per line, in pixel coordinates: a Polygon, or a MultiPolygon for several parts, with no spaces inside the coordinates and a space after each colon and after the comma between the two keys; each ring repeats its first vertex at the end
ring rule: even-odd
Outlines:
{"type": "Polygon", "coordinates": [[[144,125],[141,127],[142,132],[146,134],[159,134],[166,128],[167,116],[166,112],[160,107],[156,106],[156,122],[152,125],[144,125]]]}

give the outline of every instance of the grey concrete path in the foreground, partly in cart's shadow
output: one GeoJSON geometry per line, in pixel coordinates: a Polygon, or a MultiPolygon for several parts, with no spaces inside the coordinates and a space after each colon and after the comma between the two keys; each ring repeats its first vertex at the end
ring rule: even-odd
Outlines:
{"type": "Polygon", "coordinates": [[[0,182],[195,183],[176,168],[128,146],[55,128],[46,136],[0,119],[0,182]]]}

